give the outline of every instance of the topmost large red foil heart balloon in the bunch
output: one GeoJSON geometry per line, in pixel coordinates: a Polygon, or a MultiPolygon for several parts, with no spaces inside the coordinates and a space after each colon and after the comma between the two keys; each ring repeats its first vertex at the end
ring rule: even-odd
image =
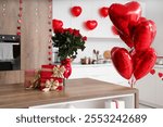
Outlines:
{"type": "Polygon", "coordinates": [[[124,5],[113,3],[109,8],[109,16],[121,34],[130,36],[129,27],[135,25],[141,16],[141,8],[136,1],[128,2],[124,5]]]}

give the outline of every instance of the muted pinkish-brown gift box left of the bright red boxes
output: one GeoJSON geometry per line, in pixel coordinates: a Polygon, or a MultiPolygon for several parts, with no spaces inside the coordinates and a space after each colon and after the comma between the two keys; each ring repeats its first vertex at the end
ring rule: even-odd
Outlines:
{"type": "Polygon", "coordinates": [[[25,71],[25,81],[24,87],[25,88],[37,88],[40,84],[40,75],[39,71],[37,69],[26,69],[25,71]]]}

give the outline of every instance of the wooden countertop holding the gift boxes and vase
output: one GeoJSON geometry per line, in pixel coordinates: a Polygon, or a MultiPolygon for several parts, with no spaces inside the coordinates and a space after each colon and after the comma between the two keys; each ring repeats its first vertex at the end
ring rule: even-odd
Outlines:
{"type": "Polygon", "coordinates": [[[138,90],[89,78],[68,79],[63,91],[27,90],[23,84],[0,85],[0,107],[30,107],[36,105],[134,94],[138,107],[138,90]]]}

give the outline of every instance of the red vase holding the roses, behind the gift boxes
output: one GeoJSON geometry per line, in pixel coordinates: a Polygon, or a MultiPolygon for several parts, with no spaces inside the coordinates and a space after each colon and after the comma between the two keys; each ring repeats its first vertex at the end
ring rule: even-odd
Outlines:
{"type": "Polygon", "coordinates": [[[65,67],[65,72],[64,72],[64,77],[68,78],[72,74],[72,63],[71,63],[71,59],[65,59],[63,61],[61,61],[61,65],[63,65],[65,67]]]}

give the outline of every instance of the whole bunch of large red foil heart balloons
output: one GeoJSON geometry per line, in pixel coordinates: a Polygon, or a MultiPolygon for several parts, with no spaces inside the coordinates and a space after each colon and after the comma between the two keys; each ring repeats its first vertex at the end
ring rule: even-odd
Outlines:
{"type": "Polygon", "coordinates": [[[141,17],[141,7],[131,1],[126,4],[113,3],[109,16],[120,38],[130,48],[115,47],[111,59],[121,76],[135,81],[146,76],[154,66],[156,53],[151,43],[156,34],[153,21],[141,17]]]}

